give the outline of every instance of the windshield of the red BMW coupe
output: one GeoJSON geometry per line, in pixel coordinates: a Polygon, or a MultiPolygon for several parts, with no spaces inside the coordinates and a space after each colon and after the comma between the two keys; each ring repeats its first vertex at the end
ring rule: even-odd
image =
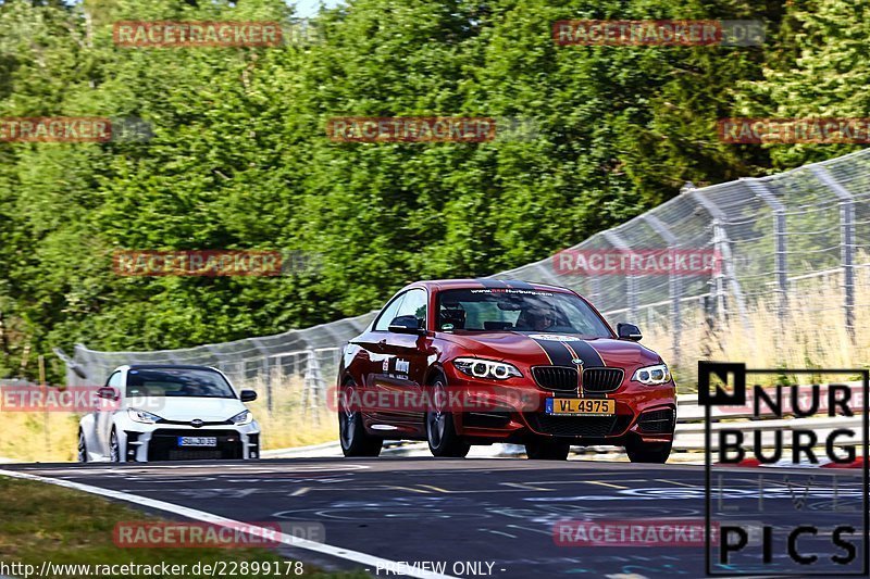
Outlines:
{"type": "Polygon", "coordinates": [[[442,291],[437,329],[613,337],[601,318],[576,295],[501,288],[442,291]]]}

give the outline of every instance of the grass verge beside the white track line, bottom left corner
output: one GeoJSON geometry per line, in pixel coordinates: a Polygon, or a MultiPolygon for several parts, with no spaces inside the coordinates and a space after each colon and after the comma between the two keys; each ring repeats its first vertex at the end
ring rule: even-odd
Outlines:
{"type": "MultiPolygon", "coordinates": [[[[159,521],[123,504],[71,489],[30,480],[0,477],[0,561],[40,568],[44,561],[54,564],[186,564],[184,577],[206,577],[191,572],[196,563],[284,562],[269,549],[121,549],[112,540],[119,521],[159,521]]],[[[281,563],[284,574],[284,563],[281,563]]],[[[359,572],[328,574],[304,564],[303,577],[362,578],[359,572]]],[[[79,571],[80,572],[80,571],[79,571]]],[[[64,577],[88,577],[64,574],[64,577]]],[[[159,575],[158,575],[159,577],[159,575]]]]}

